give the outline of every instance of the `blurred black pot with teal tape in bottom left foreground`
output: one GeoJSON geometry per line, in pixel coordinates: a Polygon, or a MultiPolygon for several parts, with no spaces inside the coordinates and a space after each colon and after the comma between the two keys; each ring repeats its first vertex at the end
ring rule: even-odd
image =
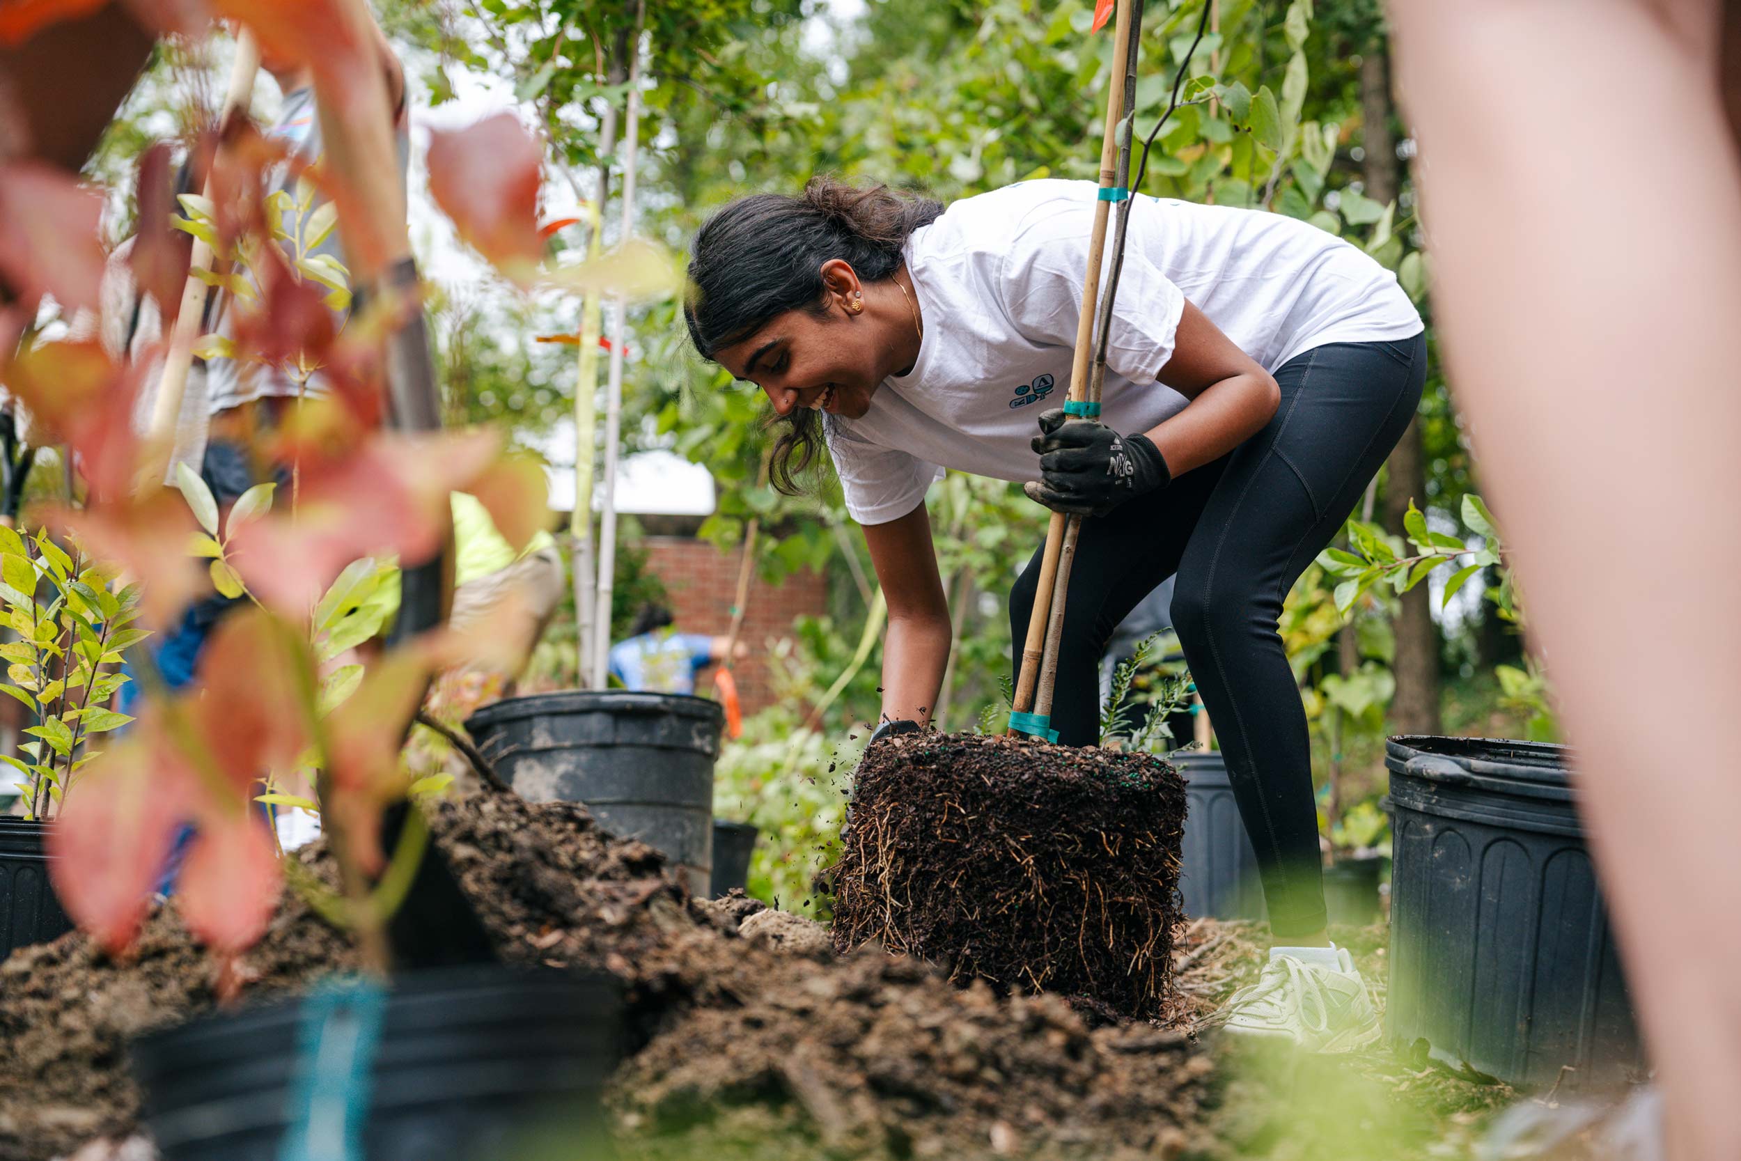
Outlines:
{"type": "Polygon", "coordinates": [[[606,978],[503,966],[200,1017],[131,1046],[165,1161],[609,1158],[601,1090],[622,1055],[606,978]],[[585,1145],[585,1147],[581,1147],[585,1145]]]}

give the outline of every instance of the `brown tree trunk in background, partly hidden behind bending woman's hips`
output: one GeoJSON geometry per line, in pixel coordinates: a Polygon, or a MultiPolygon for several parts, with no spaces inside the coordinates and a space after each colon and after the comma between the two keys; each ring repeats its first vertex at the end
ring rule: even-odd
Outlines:
{"type": "MultiPolygon", "coordinates": [[[[1379,42],[1360,61],[1361,139],[1367,150],[1361,167],[1367,197],[1377,202],[1389,202],[1402,186],[1396,139],[1391,136],[1389,73],[1389,57],[1379,42]]],[[[1408,501],[1426,503],[1426,454],[1419,421],[1403,432],[1386,466],[1384,527],[1402,534],[1408,501]]],[[[1400,733],[1438,733],[1438,628],[1433,625],[1433,597],[1426,585],[1417,585],[1402,597],[1393,668],[1396,696],[1391,701],[1391,724],[1400,733]]]]}

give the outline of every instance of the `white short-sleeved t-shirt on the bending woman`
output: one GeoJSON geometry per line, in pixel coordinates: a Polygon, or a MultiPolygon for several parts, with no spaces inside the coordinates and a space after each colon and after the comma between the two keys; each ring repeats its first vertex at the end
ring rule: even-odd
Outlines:
{"type": "MultiPolygon", "coordinates": [[[[1088,181],[1022,181],[963,198],[907,238],[919,359],[883,381],[864,418],[822,425],[855,520],[907,515],[942,468],[1039,479],[1029,440],[1069,392],[1095,197],[1088,181]]],[[[1106,251],[1102,275],[1111,237],[1106,251]]],[[[1139,195],[1107,343],[1107,426],[1147,432],[1186,406],[1154,381],[1186,299],[1269,371],[1325,343],[1421,331],[1396,277],[1335,235],[1285,214],[1139,195]]]]}

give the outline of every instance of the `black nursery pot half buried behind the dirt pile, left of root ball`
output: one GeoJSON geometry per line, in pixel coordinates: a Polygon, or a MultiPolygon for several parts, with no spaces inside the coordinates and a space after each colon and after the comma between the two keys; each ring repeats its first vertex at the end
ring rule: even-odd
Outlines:
{"type": "Polygon", "coordinates": [[[613,834],[662,851],[705,896],[724,724],[724,707],[707,698],[601,689],[507,698],[465,728],[521,795],[585,804],[613,834]]]}

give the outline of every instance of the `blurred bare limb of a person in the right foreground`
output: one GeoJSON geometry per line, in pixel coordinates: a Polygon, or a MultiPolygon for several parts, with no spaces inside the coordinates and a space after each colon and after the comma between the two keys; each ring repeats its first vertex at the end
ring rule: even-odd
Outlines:
{"type": "Polygon", "coordinates": [[[1520,1105],[1490,1156],[1741,1158],[1741,3],[1389,10],[1450,383],[1661,1084],[1595,1128],[1520,1105]],[[1619,644],[1603,630],[1640,599],[1650,632],[1619,644]],[[1621,712],[1640,675],[1671,700],[1663,729],[1621,712]]]}

